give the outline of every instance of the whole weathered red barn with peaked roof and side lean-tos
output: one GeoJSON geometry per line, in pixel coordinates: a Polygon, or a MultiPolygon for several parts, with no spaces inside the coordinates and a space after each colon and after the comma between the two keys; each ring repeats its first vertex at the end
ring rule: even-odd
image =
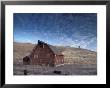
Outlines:
{"type": "Polygon", "coordinates": [[[29,56],[23,58],[24,64],[58,66],[64,64],[64,55],[52,45],[38,40],[29,56]]]}

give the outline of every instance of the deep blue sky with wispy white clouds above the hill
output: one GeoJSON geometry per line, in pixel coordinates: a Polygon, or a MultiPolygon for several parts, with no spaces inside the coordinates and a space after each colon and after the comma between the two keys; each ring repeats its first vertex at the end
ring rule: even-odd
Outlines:
{"type": "Polygon", "coordinates": [[[96,51],[96,13],[14,13],[14,41],[81,46],[96,51]]]}

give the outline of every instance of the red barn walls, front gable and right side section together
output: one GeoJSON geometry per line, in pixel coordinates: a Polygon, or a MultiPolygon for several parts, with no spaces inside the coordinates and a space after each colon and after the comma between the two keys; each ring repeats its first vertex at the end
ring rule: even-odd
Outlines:
{"type": "Polygon", "coordinates": [[[32,65],[59,65],[64,64],[64,55],[55,55],[46,44],[37,45],[30,54],[32,65]]]}

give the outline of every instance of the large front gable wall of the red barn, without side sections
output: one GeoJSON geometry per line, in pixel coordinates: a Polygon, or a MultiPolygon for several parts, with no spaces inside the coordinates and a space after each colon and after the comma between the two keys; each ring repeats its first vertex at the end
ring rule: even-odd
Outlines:
{"type": "Polygon", "coordinates": [[[48,65],[54,63],[54,53],[44,44],[43,47],[37,46],[31,55],[31,64],[48,65]]]}

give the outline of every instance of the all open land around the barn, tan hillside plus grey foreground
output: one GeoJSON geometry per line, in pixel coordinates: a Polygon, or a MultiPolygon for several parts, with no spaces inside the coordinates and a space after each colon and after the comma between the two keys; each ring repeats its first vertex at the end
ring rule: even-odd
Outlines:
{"type": "Polygon", "coordinates": [[[97,53],[94,51],[73,48],[69,46],[56,46],[64,54],[64,65],[46,67],[22,64],[22,58],[28,55],[35,44],[14,42],[14,75],[96,75],[97,53]]]}

